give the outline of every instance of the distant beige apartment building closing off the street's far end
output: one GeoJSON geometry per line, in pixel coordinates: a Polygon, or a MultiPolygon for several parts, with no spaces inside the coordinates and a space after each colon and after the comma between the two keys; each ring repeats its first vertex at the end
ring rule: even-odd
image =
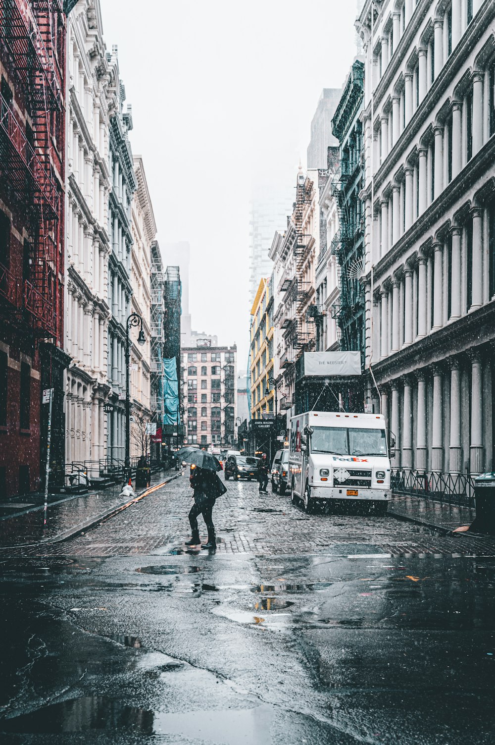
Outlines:
{"type": "Polygon", "coordinates": [[[235,345],[182,348],[181,368],[189,445],[208,447],[234,443],[236,367],[235,345]]]}

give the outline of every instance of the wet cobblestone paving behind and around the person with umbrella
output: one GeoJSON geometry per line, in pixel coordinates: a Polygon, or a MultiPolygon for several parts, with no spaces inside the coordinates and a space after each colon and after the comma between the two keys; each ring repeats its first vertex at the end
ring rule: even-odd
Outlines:
{"type": "MultiPolygon", "coordinates": [[[[258,493],[256,482],[226,483],[214,507],[219,554],[354,554],[378,551],[392,556],[414,554],[494,556],[495,539],[443,536],[393,516],[307,515],[290,495],[258,493]]],[[[54,545],[4,549],[4,555],[112,556],[177,554],[190,536],[188,511],[192,491],[187,472],[87,533],[54,545]]],[[[48,513],[49,520],[49,513],[48,513]]],[[[205,526],[199,518],[205,539],[205,526]]]]}

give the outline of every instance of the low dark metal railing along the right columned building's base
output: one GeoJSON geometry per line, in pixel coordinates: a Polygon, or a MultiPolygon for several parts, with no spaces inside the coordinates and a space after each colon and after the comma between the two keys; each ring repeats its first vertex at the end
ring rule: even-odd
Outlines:
{"type": "Polygon", "coordinates": [[[392,492],[399,494],[423,497],[442,504],[474,507],[474,478],[468,473],[394,469],[390,484],[392,492]]]}

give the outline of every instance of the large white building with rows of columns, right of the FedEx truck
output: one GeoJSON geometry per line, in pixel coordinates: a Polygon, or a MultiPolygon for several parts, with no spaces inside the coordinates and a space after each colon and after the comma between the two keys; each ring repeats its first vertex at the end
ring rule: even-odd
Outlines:
{"type": "Polygon", "coordinates": [[[366,364],[395,465],[455,491],[494,466],[495,4],[374,7],[359,22],[366,364]]]}

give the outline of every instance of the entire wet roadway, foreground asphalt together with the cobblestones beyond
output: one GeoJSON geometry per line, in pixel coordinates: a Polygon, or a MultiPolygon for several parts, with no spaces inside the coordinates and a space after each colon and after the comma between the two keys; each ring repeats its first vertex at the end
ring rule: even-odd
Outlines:
{"type": "Polygon", "coordinates": [[[0,557],[1,743],[493,743],[490,545],[256,490],[217,501],[216,554],[185,551],[183,478],[0,557]]]}

